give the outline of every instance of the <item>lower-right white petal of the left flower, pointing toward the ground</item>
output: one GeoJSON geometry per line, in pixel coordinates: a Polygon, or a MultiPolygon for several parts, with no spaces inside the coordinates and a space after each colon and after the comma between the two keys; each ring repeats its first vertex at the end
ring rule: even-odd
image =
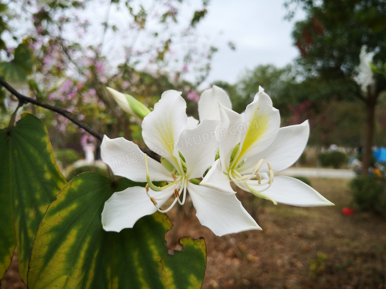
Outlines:
{"type": "Polygon", "coordinates": [[[188,190],[198,220],[217,236],[261,230],[235,194],[223,194],[192,183],[188,184],[188,190]]]}

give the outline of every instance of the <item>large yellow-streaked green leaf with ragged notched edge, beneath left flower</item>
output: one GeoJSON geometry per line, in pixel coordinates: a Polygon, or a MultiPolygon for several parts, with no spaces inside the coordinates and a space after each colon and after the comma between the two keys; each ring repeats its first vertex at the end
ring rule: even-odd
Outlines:
{"type": "MultiPolygon", "coordinates": [[[[101,225],[104,202],[114,191],[138,185],[95,172],[72,179],[48,207],[34,241],[29,289],[200,288],[205,273],[203,239],[184,237],[168,254],[172,224],[156,212],[120,233],[101,225]]],[[[145,194],[145,192],[144,192],[145,194]]]]}

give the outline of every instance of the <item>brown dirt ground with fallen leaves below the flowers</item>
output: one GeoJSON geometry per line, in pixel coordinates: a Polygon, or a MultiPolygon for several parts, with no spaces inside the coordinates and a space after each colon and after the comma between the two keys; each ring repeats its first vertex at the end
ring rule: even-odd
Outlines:
{"type": "MultiPolygon", "coordinates": [[[[189,206],[173,209],[169,215],[175,226],[166,239],[171,244],[182,236],[205,238],[203,289],[386,289],[386,219],[365,212],[342,215],[351,202],[347,182],[311,179],[336,204],[330,207],[274,206],[238,193],[263,231],[217,237],[189,206]]],[[[25,288],[16,262],[1,289],[25,288]]]]}

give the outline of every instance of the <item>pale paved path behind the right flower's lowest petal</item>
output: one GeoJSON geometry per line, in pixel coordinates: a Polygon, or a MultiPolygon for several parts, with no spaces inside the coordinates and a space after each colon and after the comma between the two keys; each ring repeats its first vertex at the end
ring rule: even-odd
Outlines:
{"type": "Polygon", "coordinates": [[[355,173],[351,169],[335,169],[335,168],[307,168],[307,167],[289,167],[278,172],[280,175],[288,176],[304,176],[311,178],[338,178],[352,179],[355,173]]]}

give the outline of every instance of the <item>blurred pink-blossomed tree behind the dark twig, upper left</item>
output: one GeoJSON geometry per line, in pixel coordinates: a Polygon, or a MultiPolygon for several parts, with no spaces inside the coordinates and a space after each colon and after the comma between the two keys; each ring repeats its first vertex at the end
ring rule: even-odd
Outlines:
{"type": "MultiPolygon", "coordinates": [[[[203,0],[198,9],[181,0],[0,4],[0,75],[97,131],[140,136],[140,126],[117,107],[105,87],[132,94],[149,107],[167,89],[181,89],[184,95],[194,91],[205,80],[216,51],[208,41],[197,41],[195,33],[207,3],[203,0]]],[[[2,93],[3,112],[8,107],[10,113],[16,99],[4,100],[2,93]]],[[[32,109],[48,126],[54,145],[81,149],[82,132],[75,125],[32,109]]]]}

